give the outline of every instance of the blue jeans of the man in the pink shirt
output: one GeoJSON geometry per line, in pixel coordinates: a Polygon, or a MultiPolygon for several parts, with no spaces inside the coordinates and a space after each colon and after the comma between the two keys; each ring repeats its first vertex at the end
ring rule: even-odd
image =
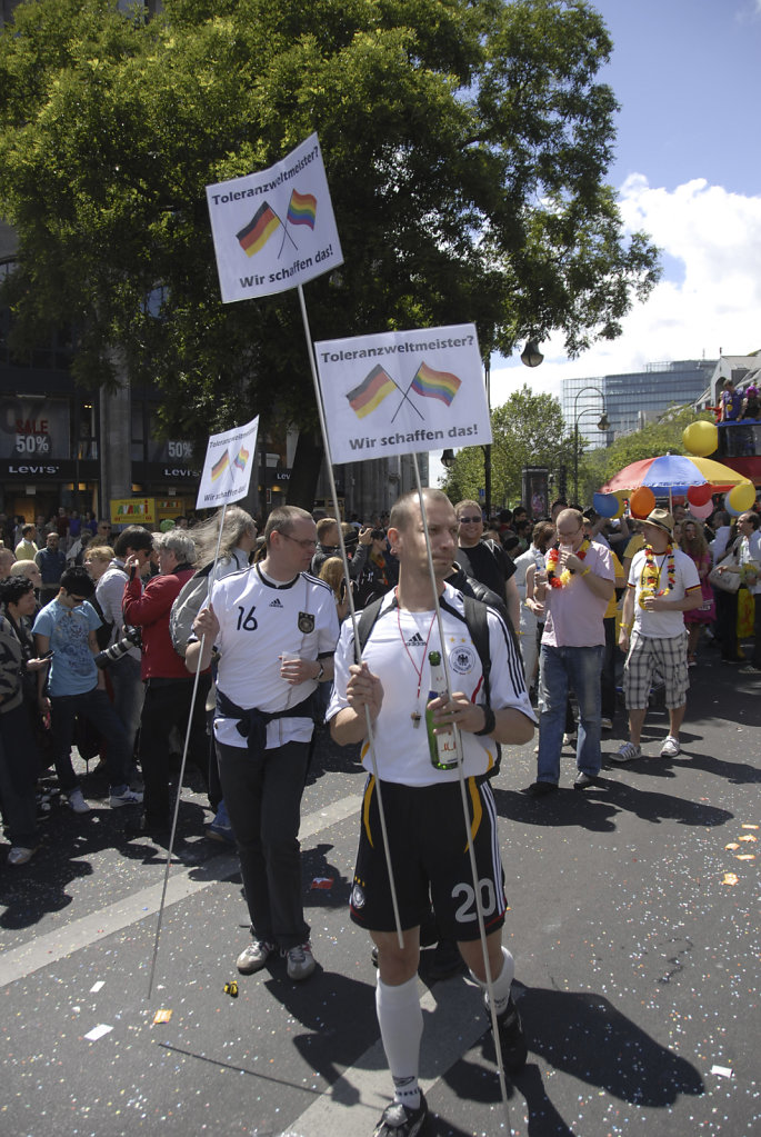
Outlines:
{"type": "Polygon", "coordinates": [[[576,765],[591,778],[600,773],[600,672],[605,648],[550,647],[542,645],[542,707],[540,714],[538,781],[558,785],[560,752],[566,730],[568,689],[576,691],[578,703],[578,742],[576,765]]]}

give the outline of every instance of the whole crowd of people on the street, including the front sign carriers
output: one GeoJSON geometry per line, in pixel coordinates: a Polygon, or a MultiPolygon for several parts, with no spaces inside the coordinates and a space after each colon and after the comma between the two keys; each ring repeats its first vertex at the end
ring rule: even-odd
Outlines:
{"type": "Polygon", "coordinates": [[[432,926],[483,989],[505,1068],[526,1060],[501,933],[491,779],[502,747],[530,741],[538,723],[526,792],[558,789],[566,746],[576,752],[574,789],[585,790],[600,774],[619,689],[628,737],[609,756],[625,763],[643,757],[657,686],[669,714],[660,753],[680,753],[689,669],[709,642],[761,674],[755,507],[735,518],[717,509],[705,523],[681,505],[609,521],[559,500],[532,521],[522,506],[486,518],[477,501],[452,505],[438,490],[424,503],[425,515],[405,495],[367,524],[282,506],[261,536],[237,506],[156,533],[115,534],[65,509],[47,525],[0,516],[0,805],[11,866],[40,845],[43,772],[55,767],[74,814],[91,810],[75,741],[100,755],[110,807],[134,807],[135,832],[167,836],[169,756],[186,736],[214,813],[207,835],[235,845],[241,861],[251,937],[237,968],[251,974],[279,954],[302,981],[317,966],[298,839],[315,725],[360,746],[351,919],[375,945],[394,1088],[376,1137],[407,1137],[425,1122],[415,976],[432,926]],[[368,620],[357,623],[352,609],[368,620]],[[432,699],[436,655],[457,689],[432,699]],[[463,902],[473,886],[459,769],[432,760],[441,735],[457,740],[470,787],[483,945],[478,904],[463,902]]]}

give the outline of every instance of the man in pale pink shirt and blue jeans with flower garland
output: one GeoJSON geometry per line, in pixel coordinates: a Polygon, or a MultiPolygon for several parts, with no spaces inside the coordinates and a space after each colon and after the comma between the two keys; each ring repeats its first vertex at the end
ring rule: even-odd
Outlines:
{"type": "Polygon", "coordinates": [[[536,574],[535,598],[546,611],[540,656],[540,750],[536,781],[526,790],[543,797],[558,789],[568,690],[578,703],[578,773],[586,789],[600,773],[600,671],[605,652],[603,617],[614,591],[610,549],[584,536],[578,509],[558,514],[558,543],[536,574]]]}

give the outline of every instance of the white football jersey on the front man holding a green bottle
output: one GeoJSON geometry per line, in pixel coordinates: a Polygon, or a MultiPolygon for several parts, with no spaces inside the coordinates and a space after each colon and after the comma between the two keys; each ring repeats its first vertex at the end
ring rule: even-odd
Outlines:
{"type": "MultiPolygon", "coordinates": [[[[454,690],[463,691],[473,703],[485,702],[483,672],[478,652],[465,623],[462,595],[450,584],[444,587],[442,601],[462,616],[448,612],[442,603],[442,621],[446,640],[446,661],[454,690]]],[[[524,672],[513,641],[501,617],[488,609],[488,639],[492,670],[491,705],[496,709],[517,707],[536,722],[526,694],[524,672]]],[[[362,658],[383,683],[383,706],[374,727],[375,756],[382,781],[402,786],[430,786],[457,781],[457,770],[436,770],[430,763],[425,707],[430,686],[428,654],[441,652],[438,626],[434,612],[404,612],[396,605],[394,592],[387,592],[377,621],[369,634],[362,658]],[[423,669],[420,674],[420,669],[423,669]],[[418,684],[420,695],[418,698],[418,684]],[[423,717],[415,727],[412,715],[423,717]]],[[[349,706],[346,682],[354,662],[353,628],[346,621],[335,654],[335,680],[327,719],[349,706]]],[[[496,760],[496,742],[462,731],[466,777],[486,773],[496,760]]],[[[373,770],[370,748],[362,745],[362,765],[373,770]]]]}

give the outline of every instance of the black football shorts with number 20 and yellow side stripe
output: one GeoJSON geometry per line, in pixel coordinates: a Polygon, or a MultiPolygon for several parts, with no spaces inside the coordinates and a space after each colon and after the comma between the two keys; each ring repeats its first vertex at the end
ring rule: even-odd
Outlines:
{"type": "MultiPolygon", "coordinates": [[[[504,923],[507,899],[496,807],[485,777],[466,780],[469,827],[486,933],[504,923]]],[[[459,782],[400,786],[383,782],[383,807],[402,929],[416,928],[429,897],[446,939],[478,939],[468,833],[459,782]]],[[[368,931],[394,931],[388,871],[375,778],[365,787],[351,919],[368,931]]]]}

